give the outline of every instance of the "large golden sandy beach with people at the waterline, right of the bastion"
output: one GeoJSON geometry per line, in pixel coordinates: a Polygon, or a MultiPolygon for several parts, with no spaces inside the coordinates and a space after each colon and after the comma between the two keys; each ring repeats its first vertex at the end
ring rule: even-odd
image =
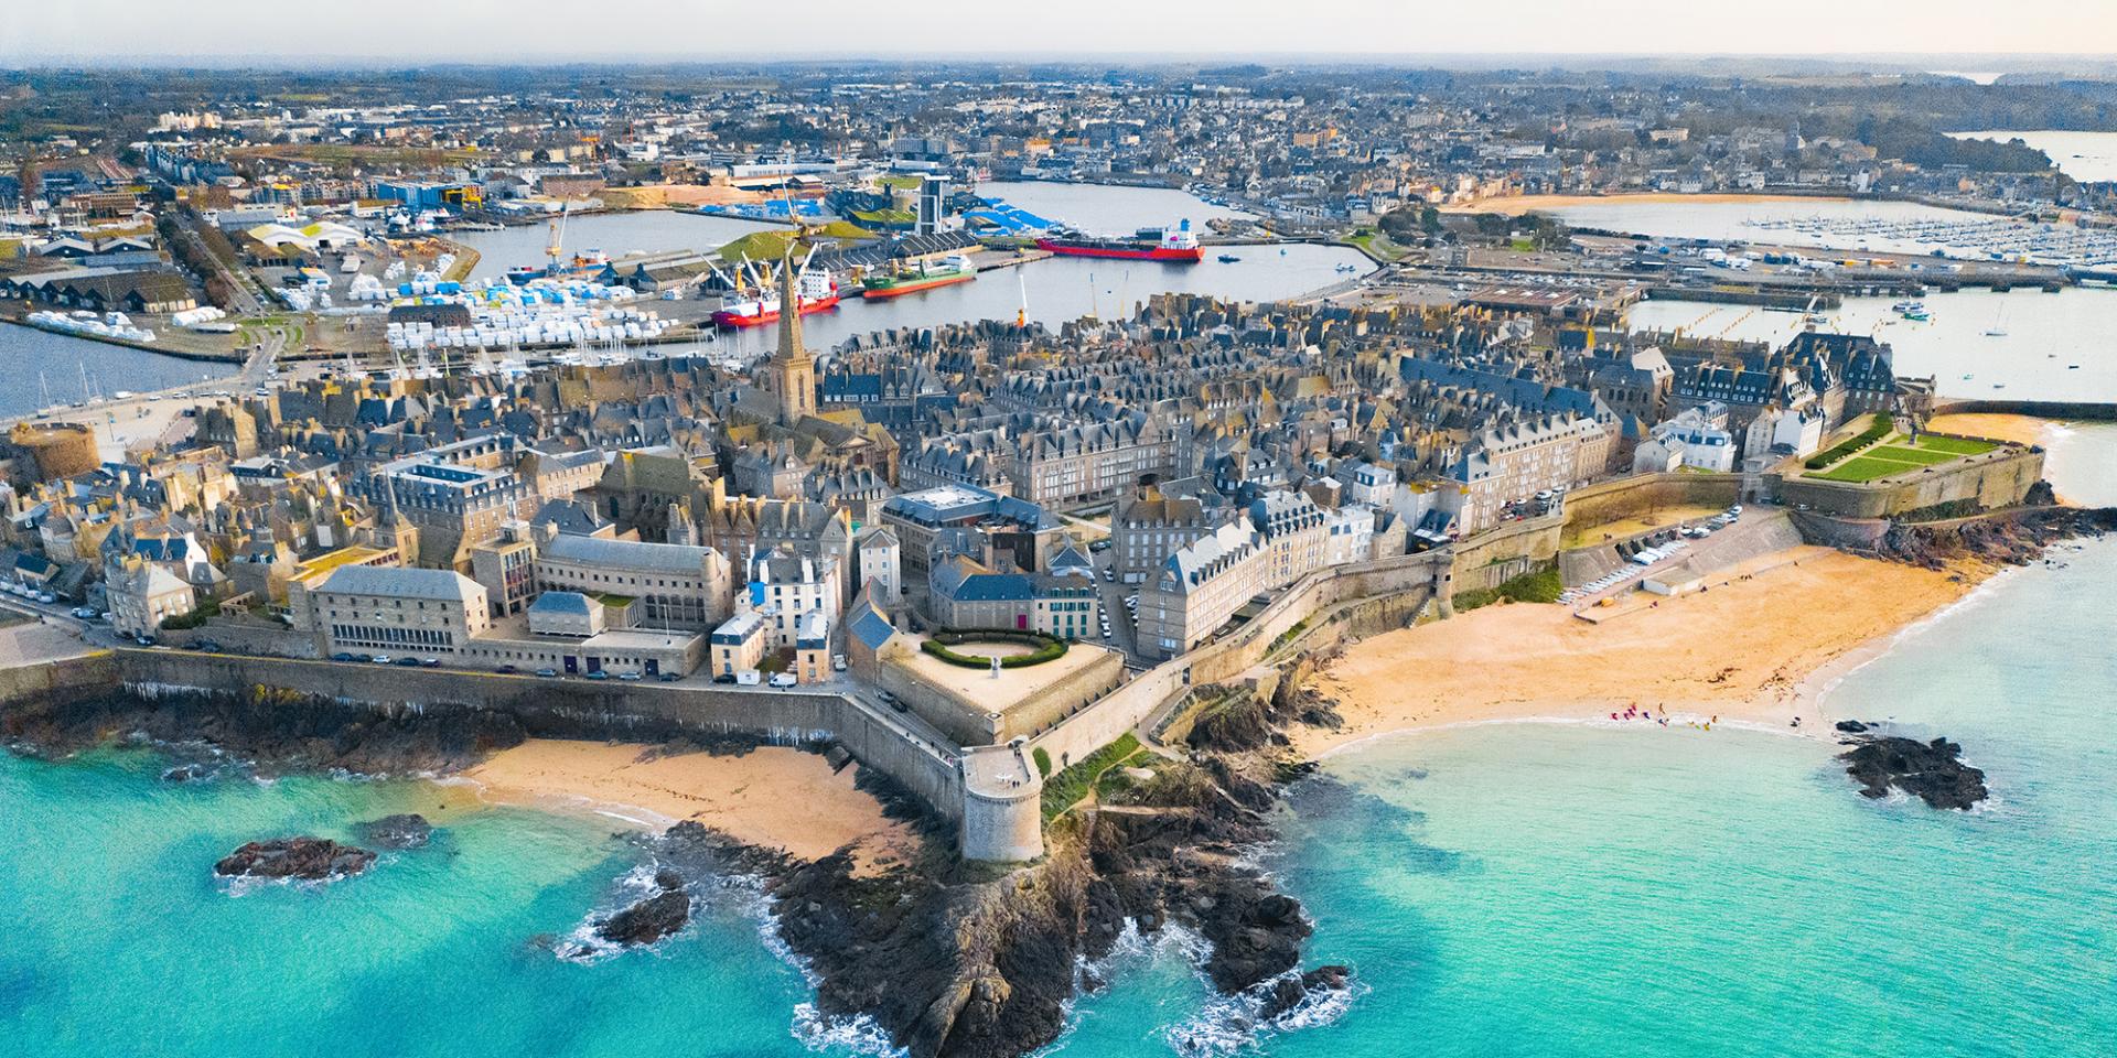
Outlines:
{"type": "Polygon", "coordinates": [[[1791,730],[1799,717],[1821,732],[1814,692],[1838,664],[1871,656],[1977,580],[1804,546],[1603,624],[1564,605],[1490,605],[1349,647],[1319,679],[1344,728],[1300,730],[1296,749],[1315,758],[1393,730],[1609,719],[1632,707],[1672,724],[1791,730]]]}

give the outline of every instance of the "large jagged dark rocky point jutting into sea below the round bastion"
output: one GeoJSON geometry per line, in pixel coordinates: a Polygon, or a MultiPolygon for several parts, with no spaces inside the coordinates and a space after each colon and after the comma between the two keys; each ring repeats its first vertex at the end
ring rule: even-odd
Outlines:
{"type": "Polygon", "coordinates": [[[826,1014],[868,1014],[917,1058],[1048,1045],[1082,961],[1109,954],[1126,923],[1196,931],[1213,984],[1268,1005],[1313,927],[1238,857],[1270,834],[1249,804],[1268,804],[1270,785],[1232,758],[1209,762],[1156,762],[1054,823],[1042,863],[997,878],[963,874],[984,870],[974,865],[855,878],[845,857],[785,863],[768,887],[779,935],[809,961],[826,1014]]]}

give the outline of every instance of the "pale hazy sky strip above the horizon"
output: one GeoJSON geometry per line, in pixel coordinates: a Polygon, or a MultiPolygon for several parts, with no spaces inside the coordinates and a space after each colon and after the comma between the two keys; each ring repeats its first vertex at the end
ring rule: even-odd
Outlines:
{"type": "Polygon", "coordinates": [[[0,0],[0,57],[2117,55],[2117,0],[0,0]]]}

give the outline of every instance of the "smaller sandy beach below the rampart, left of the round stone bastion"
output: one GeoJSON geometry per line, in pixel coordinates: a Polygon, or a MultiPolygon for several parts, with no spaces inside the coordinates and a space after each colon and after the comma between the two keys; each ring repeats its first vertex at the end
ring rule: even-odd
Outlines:
{"type": "Polygon", "coordinates": [[[819,753],[760,747],[743,755],[677,753],[644,760],[648,747],[531,738],[464,772],[491,804],[597,810],[644,827],[694,819],[747,844],[821,859],[855,846],[855,872],[902,863],[912,832],[853,787],[857,764],[838,774],[819,753]]]}

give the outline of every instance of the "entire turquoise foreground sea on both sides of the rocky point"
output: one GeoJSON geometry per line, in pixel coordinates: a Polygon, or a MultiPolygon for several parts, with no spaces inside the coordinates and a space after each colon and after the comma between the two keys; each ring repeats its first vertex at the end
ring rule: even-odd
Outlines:
{"type": "MultiPolygon", "coordinates": [[[[2001,576],[1829,694],[1948,734],[1975,813],[1867,802],[1810,738],[1501,724],[1365,743],[1298,787],[1260,853],[1359,986],[1302,1028],[1228,1033],[1183,937],[1080,1001],[1063,1056],[2117,1052],[2117,540],[2001,576]]],[[[438,813],[366,876],[241,895],[260,834],[434,810],[423,783],[224,779],[0,760],[8,1054],[849,1054],[754,897],[654,952],[529,946],[612,908],[631,842],[593,819],[438,813]],[[258,1041],[269,1041],[260,1045],[258,1041]]]]}

